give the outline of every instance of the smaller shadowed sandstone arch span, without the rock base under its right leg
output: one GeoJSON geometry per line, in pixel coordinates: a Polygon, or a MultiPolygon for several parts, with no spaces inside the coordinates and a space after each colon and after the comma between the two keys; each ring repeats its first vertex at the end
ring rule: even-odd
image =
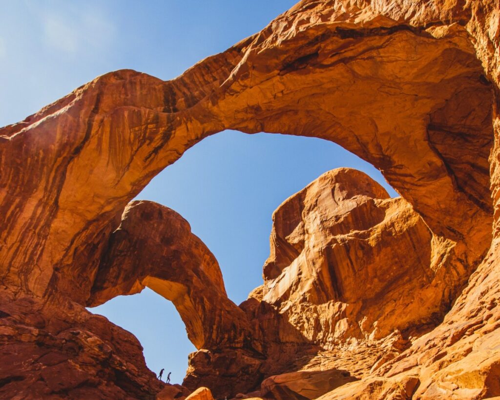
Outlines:
{"type": "Polygon", "coordinates": [[[217,260],[189,223],[168,207],[133,201],[111,233],[88,304],[144,286],[173,302],[196,348],[251,340],[244,312],[227,298],[217,260]]]}

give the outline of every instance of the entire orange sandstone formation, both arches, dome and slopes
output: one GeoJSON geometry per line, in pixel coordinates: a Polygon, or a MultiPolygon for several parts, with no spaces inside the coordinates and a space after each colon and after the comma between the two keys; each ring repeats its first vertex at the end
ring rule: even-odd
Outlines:
{"type": "Polygon", "coordinates": [[[110,72],[1,128],[0,364],[18,361],[1,369],[2,395],[153,396],[161,385],[138,343],[83,308],[144,285],[176,304],[205,347],[187,384],[210,382],[216,396],[332,365],[359,380],[324,398],[500,395],[499,8],[300,1],[174,80],[110,72]],[[363,178],[330,180],[329,194],[327,175],[312,183],[275,213],[264,285],[238,308],[182,218],[127,207],[184,150],[226,128],[335,141],[402,198],[363,178]],[[146,222],[158,231],[136,230],[146,222]],[[321,348],[338,357],[314,364],[321,348]]]}

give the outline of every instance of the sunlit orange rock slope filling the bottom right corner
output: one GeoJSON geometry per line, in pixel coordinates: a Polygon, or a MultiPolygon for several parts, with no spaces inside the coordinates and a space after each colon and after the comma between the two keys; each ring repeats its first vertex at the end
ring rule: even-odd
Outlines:
{"type": "Polygon", "coordinates": [[[489,398],[500,394],[500,313],[494,240],[483,263],[435,329],[395,358],[377,365],[372,376],[337,388],[326,398],[384,398],[413,381],[413,398],[489,398]]]}

